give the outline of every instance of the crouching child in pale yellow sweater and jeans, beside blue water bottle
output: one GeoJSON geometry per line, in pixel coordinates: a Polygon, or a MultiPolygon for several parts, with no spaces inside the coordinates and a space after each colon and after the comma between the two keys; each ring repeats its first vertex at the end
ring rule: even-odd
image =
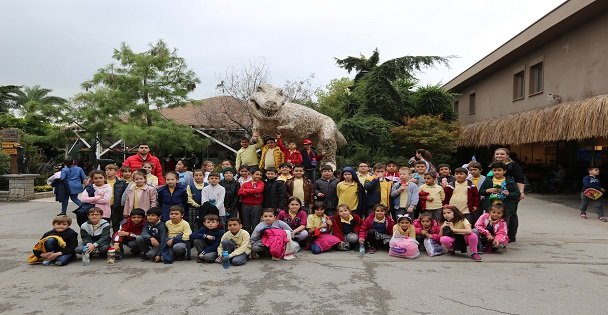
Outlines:
{"type": "Polygon", "coordinates": [[[220,245],[217,248],[216,263],[224,262],[224,251],[228,252],[228,259],[233,266],[242,266],[247,262],[251,254],[251,243],[249,232],[243,229],[241,219],[228,219],[228,232],[224,233],[220,245]]]}

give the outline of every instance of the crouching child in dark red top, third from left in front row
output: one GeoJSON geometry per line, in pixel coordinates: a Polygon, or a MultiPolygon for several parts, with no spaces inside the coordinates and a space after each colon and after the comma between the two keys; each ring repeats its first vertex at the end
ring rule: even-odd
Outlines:
{"type": "MultiPolygon", "coordinates": [[[[141,208],[135,208],[129,214],[129,218],[120,226],[120,229],[114,233],[112,236],[112,241],[114,241],[114,251],[117,253],[116,258],[122,258],[124,253],[123,245],[127,245],[129,249],[131,249],[131,253],[133,255],[137,255],[139,253],[139,248],[135,243],[135,239],[141,235],[141,232],[144,228],[144,217],[146,212],[141,208]]],[[[114,261],[111,257],[108,258],[108,263],[113,264],[114,261]]]]}

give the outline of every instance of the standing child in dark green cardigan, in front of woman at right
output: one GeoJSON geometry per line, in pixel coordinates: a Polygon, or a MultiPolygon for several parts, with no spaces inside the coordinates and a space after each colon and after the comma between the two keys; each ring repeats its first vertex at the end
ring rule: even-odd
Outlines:
{"type": "Polygon", "coordinates": [[[507,222],[509,242],[515,242],[519,219],[517,218],[517,202],[519,201],[519,188],[513,177],[505,177],[507,165],[502,162],[494,162],[490,165],[492,176],[486,177],[481,185],[479,194],[485,196],[483,209],[488,211],[495,202],[502,202],[505,211],[505,221],[507,222]]]}

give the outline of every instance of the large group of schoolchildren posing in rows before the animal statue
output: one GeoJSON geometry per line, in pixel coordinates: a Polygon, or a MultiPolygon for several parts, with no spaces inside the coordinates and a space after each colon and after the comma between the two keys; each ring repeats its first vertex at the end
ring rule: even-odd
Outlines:
{"type": "MultiPolygon", "coordinates": [[[[293,155],[290,160],[297,160],[293,155]]],[[[178,161],[161,187],[150,176],[152,165],[134,172],[123,167],[122,178],[114,164],[92,171],[80,197],[83,206],[75,211],[80,245],[69,228],[71,218],[60,215],[30,261],[65,265],[82,254],[115,263],[129,247],[141,260],[172,263],[191,259],[194,248],[197,262],[228,257],[242,265],[265,254],[281,259],[298,247],[315,254],[373,254],[388,249],[393,238],[411,239],[420,250],[427,243],[442,246],[450,254],[468,246],[471,258],[481,261],[479,251],[507,247],[507,222],[519,198],[500,162],[491,165],[488,177],[474,161],[454,175],[446,164],[438,166],[439,174],[429,171],[427,161],[416,161],[414,171],[388,162],[375,164],[372,172],[362,162],[357,171],[345,167],[339,179],[324,165],[314,180],[302,165],[260,168],[241,160],[238,175],[230,161],[222,162],[221,173],[208,161],[194,172],[178,161]]]]}

